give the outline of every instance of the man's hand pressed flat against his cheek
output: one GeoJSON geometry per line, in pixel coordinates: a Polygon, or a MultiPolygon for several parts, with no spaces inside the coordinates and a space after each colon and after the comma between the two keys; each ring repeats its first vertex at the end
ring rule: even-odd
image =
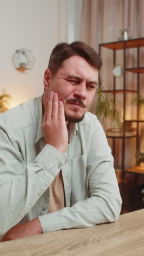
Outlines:
{"type": "Polygon", "coordinates": [[[62,101],[59,101],[57,92],[50,92],[45,106],[42,129],[47,144],[62,153],[67,150],[68,130],[65,123],[64,105],[62,101]]]}

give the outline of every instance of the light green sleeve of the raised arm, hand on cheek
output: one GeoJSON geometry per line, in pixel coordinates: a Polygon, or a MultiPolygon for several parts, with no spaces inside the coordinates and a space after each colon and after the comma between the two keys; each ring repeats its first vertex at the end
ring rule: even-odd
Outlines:
{"type": "Polygon", "coordinates": [[[0,235],[31,210],[67,161],[63,153],[46,145],[26,164],[14,139],[0,128],[0,235]]]}

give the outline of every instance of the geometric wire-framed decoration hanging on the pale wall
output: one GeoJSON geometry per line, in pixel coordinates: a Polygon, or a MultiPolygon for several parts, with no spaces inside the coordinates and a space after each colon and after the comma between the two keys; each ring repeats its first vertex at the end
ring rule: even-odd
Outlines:
{"type": "Polygon", "coordinates": [[[32,51],[27,49],[16,50],[12,60],[15,68],[19,71],[31,69],[35,62],[32,51]]]}

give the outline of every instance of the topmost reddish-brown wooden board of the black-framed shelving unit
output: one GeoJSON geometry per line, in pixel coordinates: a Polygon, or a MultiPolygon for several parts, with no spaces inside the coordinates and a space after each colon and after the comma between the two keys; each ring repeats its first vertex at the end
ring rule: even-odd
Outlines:
{"type": "Polygon", "coordinates": [[[121,50],[124,48],[124,43],[126,48],[142,47],[144,46],[144,38],[136,38],[136,39],[129,39],[125,41],[103,43],[103,44],[100,44],[100,46],[103,46],[105,48],[109,48],[112,50],[121,50]]]}

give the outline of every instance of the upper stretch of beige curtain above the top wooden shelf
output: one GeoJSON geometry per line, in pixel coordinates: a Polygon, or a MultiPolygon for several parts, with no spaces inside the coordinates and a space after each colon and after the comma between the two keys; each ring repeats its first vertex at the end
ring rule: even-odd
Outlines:
{"type": "Polygon", "coordinates": [[[80,39],[98,51],[98,44],[116,41],[129,27],[131,38],[144,36],[143,0],[83,0],[80,39]]]}

